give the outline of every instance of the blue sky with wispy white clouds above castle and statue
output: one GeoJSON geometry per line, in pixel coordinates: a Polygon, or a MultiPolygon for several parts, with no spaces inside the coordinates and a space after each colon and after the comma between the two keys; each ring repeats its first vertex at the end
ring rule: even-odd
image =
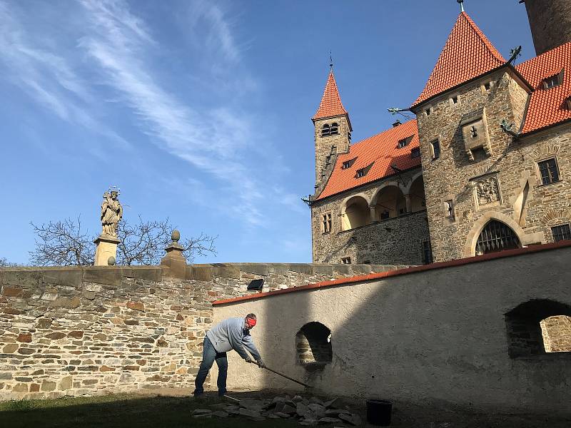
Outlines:
{"type": "MultiPolygon", "coordinates": [[[[466,0],[509,57],[534,56],[525,6],[466,0]]],[[[26,263],[30,221],[81,215],[101,195],[126,218],[218,235],[221,262],[311,260],[311,116],[333,53],[353,141],[422,91],[454,0],[0,0],[0,258],[26,263]]]]}

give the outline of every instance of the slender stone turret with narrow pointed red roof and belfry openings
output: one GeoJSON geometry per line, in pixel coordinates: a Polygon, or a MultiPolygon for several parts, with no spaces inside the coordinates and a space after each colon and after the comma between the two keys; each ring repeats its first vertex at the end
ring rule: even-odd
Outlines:
{"type": "Polygon", "coordinates": [[[317,113],[311,118],[315,126],[315,188],[325,177],[325,170],[338,153],[348,153],[351,141],[349,113],[343,107],[333,67],[329,72],[323,98],[317,113]]]}

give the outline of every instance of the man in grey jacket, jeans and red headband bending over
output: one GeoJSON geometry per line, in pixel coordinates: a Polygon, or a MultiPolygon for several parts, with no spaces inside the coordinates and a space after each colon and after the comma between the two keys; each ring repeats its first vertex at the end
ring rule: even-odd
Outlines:
{"type": "Polygon", "coordinates": [[[256,315],[248,314],[245,318],[233,317],[218,322],[217,325],[206,332],[204,337],[204,348],[202,351],[201,367],[198,369],[196,379],[194,381],[194,397],[200,397],[204,393],[204,380],[208,376],[214,361],[218,365],[218,397],[226,394],[226,375],[228,374],[228,357],[226,352],[235,350],[246,360],[246,362],[254,362],[263,368],[264,364],[260,352],[256,349],[256,345],[250,335],[250,330],[256,325],[256,315]],[[252,355],[253,359],[248,355],[252,355]]]}

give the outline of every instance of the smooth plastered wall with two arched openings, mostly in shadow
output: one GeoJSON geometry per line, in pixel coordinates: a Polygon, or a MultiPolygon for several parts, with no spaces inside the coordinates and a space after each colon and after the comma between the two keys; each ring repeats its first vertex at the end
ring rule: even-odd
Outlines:
{"type": "MultiPolygon", "coordinates": [[[[545,352],[540,323],[571,315],[570,255],[571,248],[524,253],[288,292],[215,312],[262,313],[258,334],[268,366],[325,394],[569,416],[571,352],[545,352]],[[328,330],[330,351],[323,340],[328,330]],[[520,357],[526,350],[533,361],[514,359],[516,336],[520,357]]],[[[259,383],[252,379],[252,372],[234,373],[231,383],[300,390],[267,372],[259,383]]]]}

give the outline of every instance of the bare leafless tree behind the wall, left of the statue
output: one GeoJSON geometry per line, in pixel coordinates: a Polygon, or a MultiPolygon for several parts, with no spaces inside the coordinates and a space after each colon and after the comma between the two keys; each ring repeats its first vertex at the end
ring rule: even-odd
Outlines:
{"type": "Polygon", "coordinates": [[[30,251],[33,266],[85,266],[93,265],[95,247],[93,238],[81,230],[81,217],[76,220],[42,223],[30,222],[36,234],[36,249],[30,251]]]}

